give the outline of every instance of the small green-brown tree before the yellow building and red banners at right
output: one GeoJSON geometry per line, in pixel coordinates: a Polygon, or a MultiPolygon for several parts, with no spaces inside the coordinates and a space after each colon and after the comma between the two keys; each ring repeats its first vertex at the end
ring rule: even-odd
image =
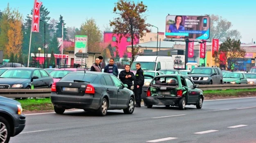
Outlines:
{"type": "Polygon", "coordinates": [[[240,47],[240,40],[235,40],[227,38],[225,42],[220,44],[218,52],[215,52],[213,57],[215,57],[216,63],[220,65],[225,65],[225,67],[230,70],[233,65],[239,65],[241,58],[245,57],[245,49],[240,47]],[[224,62],[223,60],[224,59],[224,62]],[[228,60],[226,62],[226,60],[228,60]]]}

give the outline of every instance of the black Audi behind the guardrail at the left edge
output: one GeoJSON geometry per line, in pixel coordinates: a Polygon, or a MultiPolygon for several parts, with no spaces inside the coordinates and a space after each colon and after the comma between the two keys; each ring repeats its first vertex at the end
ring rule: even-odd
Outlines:
{"type": "Polygon", "coordinates": [[[0,76],[0,89],[33,89],[51,87],[53,78],[44,69],[16,67],[0,76]]]}

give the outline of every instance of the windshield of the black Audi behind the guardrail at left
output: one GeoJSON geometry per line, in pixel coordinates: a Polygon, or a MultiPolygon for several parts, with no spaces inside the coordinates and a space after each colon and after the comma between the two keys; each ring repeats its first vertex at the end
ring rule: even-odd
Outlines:
{"type": "Polygon", "coordinates": [[[27,78],[31,77],[32,70],[29,69],[9,69],[5,71],[1,78],[27,78]]]}

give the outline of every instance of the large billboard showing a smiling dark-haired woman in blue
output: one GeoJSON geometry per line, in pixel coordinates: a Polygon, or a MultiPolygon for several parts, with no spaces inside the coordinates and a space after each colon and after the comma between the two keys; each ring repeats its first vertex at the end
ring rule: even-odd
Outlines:
{"type": "Polygon", "coordinates": [[[166,38],[206,40],[210,36],[209,16],[166,16],[166,38]]]}

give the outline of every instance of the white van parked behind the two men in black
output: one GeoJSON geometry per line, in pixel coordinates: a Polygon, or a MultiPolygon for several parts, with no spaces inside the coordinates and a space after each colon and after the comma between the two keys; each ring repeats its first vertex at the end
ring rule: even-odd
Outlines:
{"type": "Polygon", "coordinates": [[[131,71],[136,71],[136,63],[140,63],[142,70],[148,71],[173,69],[171,56],[137,56],[131,65],[131,71]]]}

